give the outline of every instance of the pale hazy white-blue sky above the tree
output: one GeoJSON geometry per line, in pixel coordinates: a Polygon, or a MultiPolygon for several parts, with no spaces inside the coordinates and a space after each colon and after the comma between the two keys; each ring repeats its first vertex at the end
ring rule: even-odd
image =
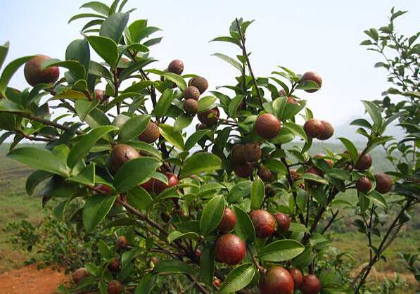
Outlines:
{"type": "MultiPolygon", "coordinates": [[[[68,24],[72,15],[91,13],[90,9],[79,9],[88,1],[3,2],[0,43],[11,43],[6,63],[33,54],[63,60],[68,44],[82,39],[79,31],[91,20],[84,18],[68,24]]],[[[109,6],[111,1],[104,3],[109,6]]],[[[359,44],[368,39],[364,30],[388,24],[393,6],[396,11],[409,11],[395,20],[398,32],[411,36],[420,31],[419,0],[129,0],[125,11],[137,8],[129,23],[148,19],[148,25],[163,30],[155,34],[163,37],[163,41],[151,47],[151,56],[160,60],[152,63],[152,67],[163,70],[171,60],[181,59],[184,74],[205,77],[210,84],[208,90],[235,84],[234,77],[238,75],[238,70],[212,54],[241,53],[233,44],[209,41],[228,36],[229,25],[235,18],[255,20],[246,35],[255,75],[267,77],[279,70],[279,65],[299,74],[318,72],[323,79],[321,90],[295,94],[307,100],[315,118],[338,126],[363,115],[360,100],[381,98],[381,92],[390,87],[385,70],[374,68],[376,62],[382,61],[381,56],[359,44]]],[[[10,86],[29,87],[22,69],[10,86]]],[[[234,96],[233,92],[227,94],[234,96]]]]}

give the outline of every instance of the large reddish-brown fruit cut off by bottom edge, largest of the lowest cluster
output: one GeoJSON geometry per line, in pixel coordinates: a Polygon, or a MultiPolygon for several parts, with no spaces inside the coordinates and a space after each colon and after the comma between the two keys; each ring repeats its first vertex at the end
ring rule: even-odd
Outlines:
{"type": "Polygon", "coordinates": [[[292,294],[294,288],[291,274],[283,267],[270,267],[258,281],[261,294],[292,294]]]}

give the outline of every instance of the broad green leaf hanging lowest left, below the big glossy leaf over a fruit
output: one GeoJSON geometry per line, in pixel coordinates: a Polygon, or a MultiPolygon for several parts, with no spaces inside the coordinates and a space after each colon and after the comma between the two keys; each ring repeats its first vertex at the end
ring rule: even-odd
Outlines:
{"type": "Polygon", "coordinates": [[[116,198],[115,195],[98,194],[87,199],[82,212],[84,228],[87,231],[94,231],[102,219],[108,215],[116,198]]]}

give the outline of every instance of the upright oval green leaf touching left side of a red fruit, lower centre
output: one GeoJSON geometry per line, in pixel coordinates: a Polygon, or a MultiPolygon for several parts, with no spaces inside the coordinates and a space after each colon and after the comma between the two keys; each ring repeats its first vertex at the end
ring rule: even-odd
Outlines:
{"type": "Polygon", "coordinates": [[[203,209],[200,219],[201,234],[207,235],[219,225],[224,212],[224,197],[212,198],[203,209]]]}

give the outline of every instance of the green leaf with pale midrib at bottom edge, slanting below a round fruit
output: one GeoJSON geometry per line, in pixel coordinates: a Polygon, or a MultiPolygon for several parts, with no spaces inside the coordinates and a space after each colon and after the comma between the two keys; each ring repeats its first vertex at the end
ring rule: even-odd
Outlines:
{"type": "Polygon", "coordinates": [[[252,263],[244,263],[231,271],[220,288],[221,293],[234,293],[248,286],[255,275],[255,268],[252,263]]]}

